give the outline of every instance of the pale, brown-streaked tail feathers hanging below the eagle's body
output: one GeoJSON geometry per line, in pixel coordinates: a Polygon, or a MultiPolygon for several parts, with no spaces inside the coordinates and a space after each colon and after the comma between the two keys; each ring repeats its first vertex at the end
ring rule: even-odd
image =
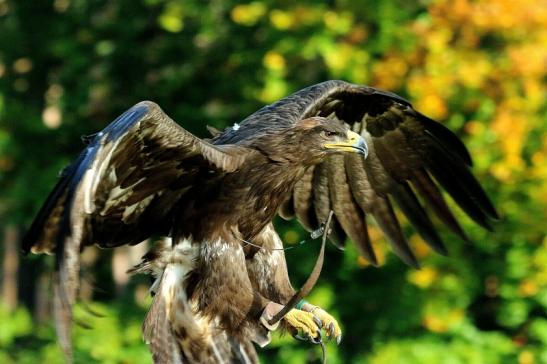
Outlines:
{"type": "Polygon", "coordinates": [[[218,317],[200,314],[187,296],[198,252],[199,246],[188,240],[172,246],[171,239],[164,239],[130,270],[156,277],[154,301],[143,325],[154,363],[258,363],[248,338],[228,335],[218,317]]]}

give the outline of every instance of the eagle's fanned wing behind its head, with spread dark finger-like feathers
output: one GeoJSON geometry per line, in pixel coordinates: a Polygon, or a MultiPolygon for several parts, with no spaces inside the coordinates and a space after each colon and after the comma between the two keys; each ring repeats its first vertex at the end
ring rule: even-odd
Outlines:
{"type": "Polygon", "coordinates": [[[377,264],[365,219],[370,214],[395,253],[413,266],[418,262],[402,233],[394,202],[441,254],[446,248],[421,201],[453,232],[466,237],[439,187],[479,225],[489,229],[489,220],[497,218],[470,171],[471,158],[458,137],[390,92],[343,81],[320,83],[264,107],[245,119],[237,133],[228,129],[214,143],[251,138],[273,125],[290,125],[315,115],[347,123],[365,138],[369,156],[365,160],[353,153],[333,155],[310,168],[281,208],[282,216],[296,216],[314,230],[332,209],[335,243],[341,245],[349,236],[361,254],[377,264]]]}

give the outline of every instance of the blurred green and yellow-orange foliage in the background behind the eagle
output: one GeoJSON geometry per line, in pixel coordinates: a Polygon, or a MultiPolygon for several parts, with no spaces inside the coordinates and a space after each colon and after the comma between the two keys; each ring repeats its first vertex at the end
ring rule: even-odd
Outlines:
{"type": "MultiPolygon", "coordinates": [[[[326,79],[389,89],[462,136],[503,219],[490,233],[460,214],[473,244],[443,231],[448,258],[406,227],[419,271],[387,254],[374,228],[381,269],[351,246],[330,249],[309,298],[344,329],[329,362],[547,363],[545,1],[0,0],[0,34],[4,226],[27,226],[79,136],[140,100],[206,136],[206,124],[326,79]]],[[[277,225],[287,244],[306,238],[277,225]]],[[[316,251],[287,253],[296,285],[316,251]]],[[[97,269],[96,284],[112,287],[108,264],[97,269]]],[[[0,362],[61,362],[52,324],[35,324],[24,303],[0,309],[0,362]]],[[[90,326],[76,326],[77,362],[150,362],[144,308],[108,290],[91,305],[102,317],[77,310],[90,326]]],[[[279,337],[260,354],[302,363],[320,352],[279,337]]]]}

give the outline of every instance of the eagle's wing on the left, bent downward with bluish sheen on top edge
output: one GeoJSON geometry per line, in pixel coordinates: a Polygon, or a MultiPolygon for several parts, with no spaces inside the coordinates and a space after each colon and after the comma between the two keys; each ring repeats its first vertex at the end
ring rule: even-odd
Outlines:
{"type": "Polygon", "coordinates": [[[56,254],[54,311],[69,358],[80,250],[94,243],[138,244],[167,233],[177,201],[198,180],[207,183],[211,175],[236,170],[246,155],[245,148],[195,137],[149,101],[87,139],[23,240],[25,252],[56,254]]]}

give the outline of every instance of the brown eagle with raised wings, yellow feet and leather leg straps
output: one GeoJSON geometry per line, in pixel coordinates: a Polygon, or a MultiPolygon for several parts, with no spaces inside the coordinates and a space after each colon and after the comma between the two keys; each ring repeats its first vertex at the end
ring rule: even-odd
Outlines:
{"type": "MultiPolygon", "coordinates": [[[[54,312],[69,361],[86,246],[159,239],[132,269],[155,278],[143,324],[155,363],[254,363],[253,342],[268,343],[277,329],[268,319],[295,294],[276,215],[314,231],[332,211],[329,239],[353,241],[376,266],[375,223],[413,267],[396,206],[440,254],[429,214],[468,240],[443,189],[478,225],[498,218],[461,140],[391,92],[326,81],[213,134],[200,139],[144,101],[85,138],[60,174],[22,248],[56,255],[54,312]]],[[[336,319],[306,301],[281,326],[341,338],[336,319]]]]}

